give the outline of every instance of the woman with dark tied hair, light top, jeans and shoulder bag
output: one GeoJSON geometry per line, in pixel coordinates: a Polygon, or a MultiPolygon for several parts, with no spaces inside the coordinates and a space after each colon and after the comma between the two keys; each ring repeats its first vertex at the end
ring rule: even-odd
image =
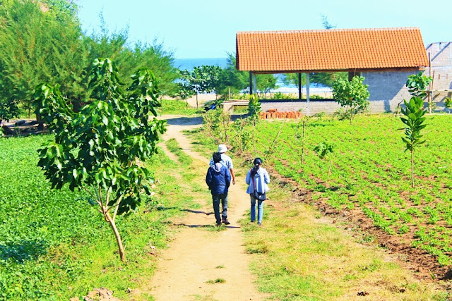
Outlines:
{"type": "Polygon", "coordinates": [[[263,215],[263,201],[266,199],[266,192],[268,191],[268,183],[270,183],[270,176],[265,168],[261,167],[262,159],[256,158],[253,161],[254,167],[246,173],[246,184],[248,189],[246,193],[251,198],[251,223],[256,221],[256,201],[257,201],[257,224],[262,225],[263,215]]]}

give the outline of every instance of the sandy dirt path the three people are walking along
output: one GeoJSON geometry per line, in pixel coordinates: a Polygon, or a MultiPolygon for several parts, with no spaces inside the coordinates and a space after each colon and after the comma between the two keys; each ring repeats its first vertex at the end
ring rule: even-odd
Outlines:
{"type": "MultiPolygon", "coordinates": [[[[175,138],[184,152],[200,164],[208,166],[208,159],[191,150],[189,139],[182,130],[201,125],[201,118],[164,116],[168,129],[164,140],[175,138]]],[[[204,175],[197,179],[204,183],[204,175]]],[[[258,293],[249,271],[249,257],[245,254],[242,233],[237,221],[249,208],[249,197],[244,190],[244,178],[237,178],[229,192],[228,219],[225,231],[207,231],[203,226],[215,223],[213,209],[206,200],[199,200],[201,209],[189,211],[180,224],[168,250],[162,254],[157,273],[149,283],[148,290],[156,300],[264,300],[258,293]],[[209,215],[207,215],[207,214],[209,215]],[[218,278],[224,283],[207,283],[218,278]]]]}

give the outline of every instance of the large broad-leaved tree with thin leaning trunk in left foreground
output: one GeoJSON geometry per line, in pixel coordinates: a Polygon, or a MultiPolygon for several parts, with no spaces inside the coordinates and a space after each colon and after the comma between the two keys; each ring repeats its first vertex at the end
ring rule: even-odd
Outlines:
{"type": "Polygon", "coordinates": [[[116,217],[136,210],[143,195],[150,194],[153,178],[140,162],[155,154],[165,132],[165,121],[149,118],[150,113],[157,116],[160,106],[155,76],[140,68],[131,78],[127,93],[116,64],[95,60],[89,75],[93,102],[78,113],[64,102],[59,85],[42,84],[35,90],[37,110],[55,135],[40,149],[37,165],[52,188],[68,184],[90,194],[112,227],[123,261],[116,217]]]}

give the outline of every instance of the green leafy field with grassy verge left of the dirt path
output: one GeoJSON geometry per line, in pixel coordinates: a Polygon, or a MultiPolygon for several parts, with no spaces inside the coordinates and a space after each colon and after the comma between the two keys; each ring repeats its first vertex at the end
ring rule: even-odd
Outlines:
{"type": "Polygon", "coordinates": [[[69,300],[100,287],[128,300],[128,288],[154,274],[150,245],[167,246],[168,219],[194,207],[193,198],[180,197],[174,162],[162,152],[146,162],[162,184],[137,214],[119,217],[128,259],[121,262],[109,225],[87,195],[51,190],[36,166],[36,150],[50,139],[0,139],[0,300],[69,300]],[[157,210],[162,205],[172,209],[157,210]]]}

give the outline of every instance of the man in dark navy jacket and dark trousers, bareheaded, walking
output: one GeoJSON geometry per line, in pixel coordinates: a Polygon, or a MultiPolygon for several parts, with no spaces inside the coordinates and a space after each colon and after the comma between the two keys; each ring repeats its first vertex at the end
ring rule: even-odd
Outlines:
{"type": "Polygon", "coordinates": [[[209,166],[206,175],[206,184],[212,194],[213,212],[217,220],[217,226],[221,223],[229,225],[227,221],[227,190],[231,183],[231,173],[229,169],[221,163],[221,154],[219,152],[213,153],[213,165],[209,166]],[[220,202],[222,205],[222,212],[220,216],[220,202]]]}

